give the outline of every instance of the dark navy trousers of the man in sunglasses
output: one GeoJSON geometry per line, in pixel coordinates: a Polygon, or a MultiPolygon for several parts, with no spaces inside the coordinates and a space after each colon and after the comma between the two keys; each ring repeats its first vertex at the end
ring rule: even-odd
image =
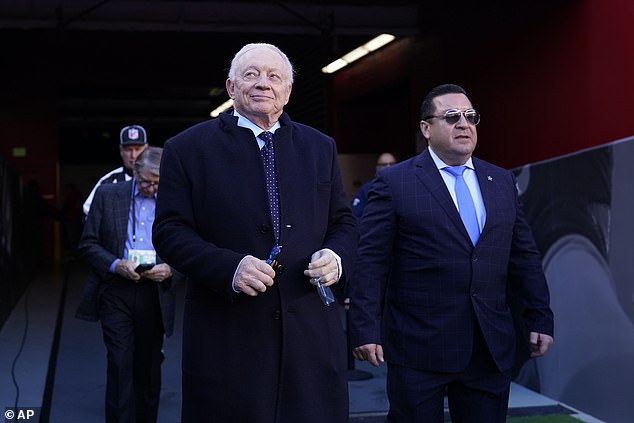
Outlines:
{"type": "Polygon", "coordinates": [[[473,353],[459,373],[435,373],[388,364],[389,423],[443,423],[447,394],[453,423],[504,423],[511,370],[500,372],[476,327],[473,353]]]}

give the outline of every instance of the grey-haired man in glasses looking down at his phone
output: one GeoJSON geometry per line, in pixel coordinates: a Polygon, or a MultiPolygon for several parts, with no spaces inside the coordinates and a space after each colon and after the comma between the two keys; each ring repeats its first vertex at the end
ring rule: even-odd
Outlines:
{"type": "Polygon", "coordinates": [[[108,423],[150,423],[158,415],[161,349],[175,310],[172,269],[152,246],[161,154],[148,147],[132,180],[99,186],[78,246],[92,272],[76,316],[101,321],[108,423]],[[153,266],[143,271],[139,264],[153,266]]]}

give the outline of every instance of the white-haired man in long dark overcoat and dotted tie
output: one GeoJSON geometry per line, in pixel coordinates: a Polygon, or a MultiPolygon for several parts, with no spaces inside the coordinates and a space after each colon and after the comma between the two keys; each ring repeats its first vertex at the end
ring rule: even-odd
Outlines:
{"type": "Polygon", "coordinates": [[[348,421],[343,325],[315,284],[348,271],[357,229],[334,140],[283,111],[292,84],[283,52],[248,44],[234,110],[165,144],[154,243],[189,282],[183,423],[348,421]]]}

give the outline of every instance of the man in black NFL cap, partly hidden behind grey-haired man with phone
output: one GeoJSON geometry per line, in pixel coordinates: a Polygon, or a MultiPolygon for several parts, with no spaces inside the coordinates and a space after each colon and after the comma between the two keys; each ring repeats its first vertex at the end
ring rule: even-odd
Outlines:
{"type": "Polygon", "coordinates": [[[84,202],[84,216],[88,216],[90,204],[95,196],[97,187],[101,184],[116,184],[117,182],[129,181],[132,179],[132,169],[137,157],[148,146],[147,132],[141,125],[129,125],[121,129],[119,133],[119,154],[123,161],[123,166],[118,167],[99,179],[99,182],[90,192],[90,195],[84,202]]]}

